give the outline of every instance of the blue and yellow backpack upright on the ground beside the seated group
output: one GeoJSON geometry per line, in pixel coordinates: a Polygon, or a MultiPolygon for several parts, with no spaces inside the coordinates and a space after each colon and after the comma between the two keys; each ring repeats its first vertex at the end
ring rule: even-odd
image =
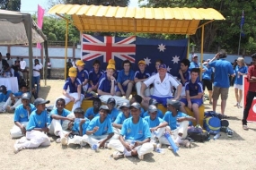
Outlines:
{"type": "Polygon", "coordinates": [[[205,112],[204,129],[210,134],[216,135],[220,132],[221,118],[213,111],[205,112]]]}

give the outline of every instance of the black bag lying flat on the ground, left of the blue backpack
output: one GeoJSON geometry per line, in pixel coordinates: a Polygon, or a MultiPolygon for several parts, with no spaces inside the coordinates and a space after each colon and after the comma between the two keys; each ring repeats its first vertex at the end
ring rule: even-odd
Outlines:
{"type": "Polygon", "coordinates": [[[188,130],[188,138],[190,138],[191,140],[205,142],[207,140],[210,140],[209,137],[210,134],[207,131],[202,130],[200,128],[191,127],[188,130]]]}

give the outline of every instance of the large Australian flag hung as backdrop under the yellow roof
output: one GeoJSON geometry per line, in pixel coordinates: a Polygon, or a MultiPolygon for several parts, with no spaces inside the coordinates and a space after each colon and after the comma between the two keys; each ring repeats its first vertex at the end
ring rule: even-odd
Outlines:
{"type": "Polygon", "coordinates": [[[101,37],[82,35],[82,56],[85,68],[91,70],[93,61],[101,62],[102,70],[105,70],[110,58],[116,61],[116,69],[122,69],[122,61],[129,60],[132,69],[137,71],[137,62],[145,60],[146,69],[154,72],[154,64],[157,59],[163,60],[167,65],[167,71],[177,76],[181,60],[186,58],[188,39],[163,40],[138,37],[101,37]]]}

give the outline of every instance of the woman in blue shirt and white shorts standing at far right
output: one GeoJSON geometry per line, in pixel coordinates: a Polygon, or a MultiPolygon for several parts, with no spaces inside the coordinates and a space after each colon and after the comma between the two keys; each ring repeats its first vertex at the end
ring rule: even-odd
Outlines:
{"type": "Polygon", "coordinates": [[[248,68],[244,63],[243,57],[237,58],[237,65],[234,69],[234,72],[235,72],[234,94],[236,98],[236,104],[234,106],[237,106],[237,108],[240,108],[242,107],[240,105],[240,102],[243,98],[243,75],[246,75],[248,72],[248,68]],[[238,90],[239,90],[239,94],[238,94],[238,90]]]}

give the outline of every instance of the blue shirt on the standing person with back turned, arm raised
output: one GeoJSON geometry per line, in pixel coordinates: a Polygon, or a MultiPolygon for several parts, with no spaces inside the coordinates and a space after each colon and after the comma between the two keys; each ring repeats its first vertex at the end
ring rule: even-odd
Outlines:
{"type": "Polygon", "coordinates": [[[222,58],[211,62],[208,65],[215,68],[214,86],[219,88],[229,88],[230,83],[228,74],[234,74],[232,64],[222,58]]]}

